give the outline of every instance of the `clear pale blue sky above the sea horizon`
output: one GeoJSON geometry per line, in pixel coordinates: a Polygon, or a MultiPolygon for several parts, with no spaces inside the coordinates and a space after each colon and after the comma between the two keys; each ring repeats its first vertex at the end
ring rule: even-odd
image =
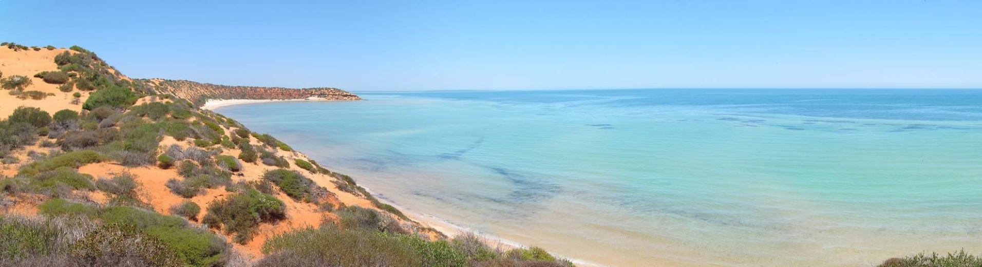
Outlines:
{"type": "Polygon", "coordinates": [[[982,88],[977,0],[0,0],[0,39],[230,85],[982,88]]]}

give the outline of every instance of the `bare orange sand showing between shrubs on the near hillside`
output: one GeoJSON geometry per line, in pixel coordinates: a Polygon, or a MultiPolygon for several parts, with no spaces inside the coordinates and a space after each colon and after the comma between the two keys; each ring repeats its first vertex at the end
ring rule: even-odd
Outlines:
{"type": "MultiPolygon", "coordinates": [[[[0,92],[0,118],[6,119],[6,117],[8,117],[14,111],[14,109],[20,106],[39,107],[42,110],[47,111],[49,114],[54,114],[62,109],[72,109],[76,111],[82,110],[82,105],[73,105],[70,103],[73,98],[71,94],[78,90],[74,90],[72,92],[62,92],[58,90],[59,84],[49,84],[41,79],[32,78],[34,74],[42,71],[57,71],[58,68],[54,63],[54,57],[59,53],[63,53],[64,51],[66,51],[66,49],[55,49],[50,51],[41,49],[40,51],[28,50],[15,52],[12,49],[8,49],[6,46],[0,47],[0,72],[3,72],[4,77],[10,77],[13,75],[26,76],[33,82],[32,85],[27,87],[27,90],[40,90],[45,93],[50,92],[55,94],[54,96],[48,96],[42,100],[22,100],[6,92],[0,92]]],[[[124,77],[124,79],[128,78],[124,77]]],[[[82,102],[84,102],[86,95],[87,93],[82,92],[82,102]]],[[[308,101],[305,99],[300,100],[308,101]]],[[[171,100],[147,96],[139,99],[136,104],[153,101],[171,100]]],[[[229,100],[224,101],[226,102],[221,103],[230,103],[227,102],[229,100]]],[[[212,107],[214,107],[214,105],[212,107]]],[[[225,129],[227,135],[232,134],[233,130],[234,129],[225,129]]],[[[41,137],[37,143],[40,143],[43,140],[53,141],[52,139],[41,137]]],[[[191,140],[192,139],[190,138],[187,140],[176,140],[171,136],[164,136],[163,140],[160,142],[158,152],[164,151],[164,149],[169,147],[171,144],[178,144],[182,147],[191,146],[191,140]]],[[[249,136],[249,141],[254,145],[262,145],[258,140],[251,136],[249,136]]],[[[18,169],[23,164],[30,162],[30,159],[27,156],[28,152],[30,151],[47,153],[52,149],[57,150],[58,148],[31,145],[16,151],[13,153],[13,156],[17,157],[20,161],[12,164],[0,163],[0,175],[7,177],[15,176],[18,169]]],[[[238,149],[224,149],[222,154],[238,156],[239,152],[240,151],[238,149]]],[[[335,187],[332,183],[333,181],[336,181],[335,178],[322,174],[311,174],[293,164],[294,159],[310,161],[306,155],[299,152],[287,151],[278,151],[277,153],[286,157],[287,160],[291,162],[291,170],[304,174],[304,176],[313,180],[318,186],[325,187],[329,191],[335,193],[337,195],[337,199],[333,200],[333,202],[335,202],[334,204],[337,205],[343,203],[348,206],[361,206],[376,209],[371,202],[364,197],[341,191],[335,187]]],[[[265,166],[261,163],[253,164],[244,162],[243,165],[243,176],[233,176],[233,180],[235,182],[259,180],[266,171],[276,169],[276,167],[265,166]]],[[[156,166],[127,168],[114,162],[104,162],[82,166],[79,171],[84,174],[92,175],[96,179],[110,178],[123,173],[129,173],[136,176],[136,181],[141,185],[139,188],[141,200],[148,203],[153,210],[162,214],[171,214],[169,210],[170,207],[185,200],[185,198],[170,192],[170,190],[164,186],[169,179],[182,179],[174,169],[164,170],[156,166]]],[[[194,196],[190,200],[201,206],[201,213],[198,216],[198,218],[201,218],[205,213],[208,203],[227,197],[231,193],[232,192],[228,192],[224,188],[207,189],[204,194],[194,196]]],[[[99,204],[105,204],[108,200],[108,197],[99,191],[76,191],[76,194],[83,195],[83,198],[99,204]]],[[[36,205],[43,200],[41,197],[33,197],[29,195],[18,197],[24,199],[16,199],[17,205],[14,206],[12,210],[8,210],[7,212],[34,214],[37,212],[36,205]]],[[[245,245],[235,244],[236,248],[239,248],[247,255],[250,255],[253,259],[261,257],[260,248],[262,243],[272,235],[288,232],[298,228],[317,227],[324,219],[336,220],[337,218],[330,212],[320,211],[318,207],[312,203],[295,201],[283,192],[278,192],[276,197],[286,203],[287,219],[275,225],[261,224],[258,228],[259,234],[256,235],[253,240],[249,241],[245,245]]],[[[0,212],[2,212],[2,210],[0,210],[0,212]]],[[[406,224],[414,224],[418,226],[415,223],[405,222],[401,219],[397,220],[406,224]]],[[[436,233],[426,232],[424,234],[427,234],[430,237],[437,236],[436,233]]],[[[231,237],[227,238],[231,240],[231,237]]]]}

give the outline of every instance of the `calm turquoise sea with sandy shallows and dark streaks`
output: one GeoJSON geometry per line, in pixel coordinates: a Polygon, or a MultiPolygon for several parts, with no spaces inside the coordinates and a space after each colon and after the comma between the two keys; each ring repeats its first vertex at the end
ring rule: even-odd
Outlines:
{"type": "Polygon", "coordinates": [[[410,213],[608,266],[982,252],[982,90],[358,94],[217,111],[410,213]]]}

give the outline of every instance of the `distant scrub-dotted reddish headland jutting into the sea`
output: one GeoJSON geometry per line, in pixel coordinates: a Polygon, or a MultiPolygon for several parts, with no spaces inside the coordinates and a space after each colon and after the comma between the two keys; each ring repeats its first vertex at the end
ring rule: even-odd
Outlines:
{"type": "Polygon", "coordinates": [[[140,80],[151,84],[160,93],[170,93],[203,104],[206,99],[304,99],[361,100],[357,95],[338,88],[284,88],[258,86],[229,86],[191,80],[140,80]]]}

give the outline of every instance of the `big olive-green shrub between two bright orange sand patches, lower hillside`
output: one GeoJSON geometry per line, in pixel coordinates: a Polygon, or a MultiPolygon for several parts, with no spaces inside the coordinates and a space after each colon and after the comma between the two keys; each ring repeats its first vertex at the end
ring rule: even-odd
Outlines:
{"type": "Polygon", "coordinates": [[[276,197],[246,188],[245,192],[208,204],[202,223],[211,228],[221,227],[235,240],[246,243],[260,222],[276,222],[286,218],[286,206],[276,197]]]}

